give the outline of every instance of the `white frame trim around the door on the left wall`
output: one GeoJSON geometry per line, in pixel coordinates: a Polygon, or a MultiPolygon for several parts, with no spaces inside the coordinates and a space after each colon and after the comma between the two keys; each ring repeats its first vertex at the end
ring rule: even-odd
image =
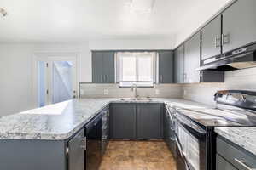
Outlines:
{"type": "MultiPolygon", "coordinates": [[[[76,98],[79,97],[79,77],[80,77],[80,54],[79,53],[34,53],[32,57],[32,95],[34,105],[38,107],[38,61],[39,60],[68,60],[72,59],[76,65],[76,75],[75,75],[75,90],[76,98]]],[[[46,101],[49,104],[49,101],[46,101]]]]}

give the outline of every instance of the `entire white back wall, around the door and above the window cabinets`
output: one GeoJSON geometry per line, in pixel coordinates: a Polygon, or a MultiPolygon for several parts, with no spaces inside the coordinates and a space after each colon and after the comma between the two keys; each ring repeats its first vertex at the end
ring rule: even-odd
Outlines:
{"type": "Polygon", "coordinates": [[[79,82],[91,82],[90,49],[170,49],[172,42],[160,40],[97,40],[73,44],[0,43],[0,116],[35,108],[32,62],[35,53],[80,54],[79,82]]]}

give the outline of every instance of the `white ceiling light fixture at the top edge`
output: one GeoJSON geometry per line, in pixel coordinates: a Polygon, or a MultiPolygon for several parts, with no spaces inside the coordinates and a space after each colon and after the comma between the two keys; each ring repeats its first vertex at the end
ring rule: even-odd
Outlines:
{"type": "Polygon", "coordinates": [[[131,0],[131,9],[136,12],[150,13],[155,0],[131,0]]]}

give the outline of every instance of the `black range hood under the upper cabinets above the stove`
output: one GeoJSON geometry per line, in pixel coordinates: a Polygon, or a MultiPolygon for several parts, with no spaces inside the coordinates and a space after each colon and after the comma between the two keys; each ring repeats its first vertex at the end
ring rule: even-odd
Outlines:
{"type": "Polygon", "coordinates": [[[233,71],[256,67],[256,43],[202,60],[196,71],[233,71]]]}

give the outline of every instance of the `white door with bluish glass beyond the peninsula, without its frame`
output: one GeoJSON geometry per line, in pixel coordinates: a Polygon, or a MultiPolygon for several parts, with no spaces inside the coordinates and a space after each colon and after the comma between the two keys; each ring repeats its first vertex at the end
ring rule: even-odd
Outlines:
{"type": "Polygon", "coordinates": [[[76,57],[38,57],[37,67],[39,107],[77,97],[76,57]]]}

